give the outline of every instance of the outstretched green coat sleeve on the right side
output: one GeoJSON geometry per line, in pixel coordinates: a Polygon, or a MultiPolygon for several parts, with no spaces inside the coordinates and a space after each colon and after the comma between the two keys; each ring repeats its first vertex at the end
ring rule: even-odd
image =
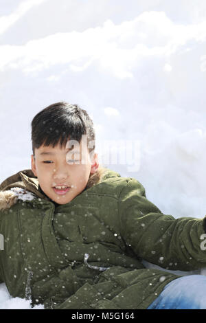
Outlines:
{"type": "Polygon", "coordinates": [[[205,218],[163,214],[131,178],[119,195],[118,210],[120,234],[138,257],[170,270],[206,267],[205,218]]]}

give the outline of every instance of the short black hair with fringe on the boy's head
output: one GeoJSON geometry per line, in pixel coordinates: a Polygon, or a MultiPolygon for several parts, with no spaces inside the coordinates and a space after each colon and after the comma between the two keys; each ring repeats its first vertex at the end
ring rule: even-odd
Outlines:
{"type": "Polygon", "coordinates": [[[95,149],[95,131],[93,121],[87,111],[77,104],[58,102],[46,107],[32,120],[32,151],[41,145],[53,148],[60,144],[65,148],[68,140],[80,143],[82,135],[87,135],[87,144],[92,141],[89,153],[95,149]]]}

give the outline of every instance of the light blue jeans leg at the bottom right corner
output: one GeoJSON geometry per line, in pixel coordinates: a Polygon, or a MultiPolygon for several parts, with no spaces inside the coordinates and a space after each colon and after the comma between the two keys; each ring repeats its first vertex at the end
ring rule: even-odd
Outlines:
{"type": "Polygon", "coordinates": [[[206,309],[206,276],[172,280],[148,309],[206,309]]]}

